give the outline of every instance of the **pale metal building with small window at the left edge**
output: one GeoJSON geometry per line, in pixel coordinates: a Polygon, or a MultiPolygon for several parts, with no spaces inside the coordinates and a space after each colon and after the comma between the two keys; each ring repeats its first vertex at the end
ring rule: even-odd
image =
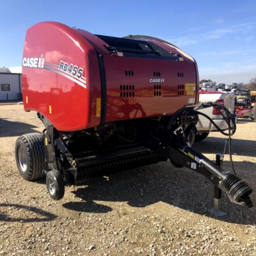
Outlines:
{"type": "Polygon", "coordinates": [[[0,100],[21,100],[21,74],[0,68],[0,100]]]}

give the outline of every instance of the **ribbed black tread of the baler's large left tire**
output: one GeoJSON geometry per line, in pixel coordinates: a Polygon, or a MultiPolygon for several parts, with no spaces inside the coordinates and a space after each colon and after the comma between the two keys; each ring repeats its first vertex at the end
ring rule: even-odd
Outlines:
{"type": "Polygon", "coordinates": [[[44,177],[44,134],[33,132],[23,134],[17,140],[21,140],[27,151],[28,169],[26,180],[36,180],[44,177]]]}

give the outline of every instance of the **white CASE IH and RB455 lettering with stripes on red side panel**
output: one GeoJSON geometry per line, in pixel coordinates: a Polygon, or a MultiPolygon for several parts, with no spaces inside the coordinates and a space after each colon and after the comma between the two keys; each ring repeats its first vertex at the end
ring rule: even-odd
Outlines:
{"type": "Polygon", "coordinates": [[[44,55],[41,58],[23,58],[23,67],[26,68],[43,68],[50,70],[60,76],[66,77],[67,79],[74,81],[75,83],[86,88],[86,78],[83,77],[84,68],[81,68],[73,63],[68,64],[65,61],[60,61],[60,65],[49,63],[45,61],[44,55]]]}

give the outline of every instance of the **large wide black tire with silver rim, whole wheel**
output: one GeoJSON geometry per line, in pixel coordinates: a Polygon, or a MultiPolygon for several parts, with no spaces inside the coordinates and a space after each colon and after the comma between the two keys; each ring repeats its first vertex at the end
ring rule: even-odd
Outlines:
{"type": "Polygon", "coordinates": [[[36,180],[44,177],[44,134],[34,132],[17,138],[15,160],[23,179],[36,180]]]}

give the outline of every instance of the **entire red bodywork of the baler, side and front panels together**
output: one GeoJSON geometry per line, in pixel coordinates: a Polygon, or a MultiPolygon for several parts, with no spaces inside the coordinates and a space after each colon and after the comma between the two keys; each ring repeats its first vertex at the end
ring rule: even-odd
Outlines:
{"type": "MultiPolygon", "coordinates": [[[[177,53],[170,45],[156,43],[177,53]]],[[[57,22],[29,28],[22,63],[24,109],[38,111],[59,131],[79,131],[97,127],[102,108],[103,121],[109,122],[172,115],[196,103],[195,61],[185,56],[184,61],[113,56],[106,46],[88,31],[57,22]],[[100,55],[106,77],[100,72],[100,55]]]]}

